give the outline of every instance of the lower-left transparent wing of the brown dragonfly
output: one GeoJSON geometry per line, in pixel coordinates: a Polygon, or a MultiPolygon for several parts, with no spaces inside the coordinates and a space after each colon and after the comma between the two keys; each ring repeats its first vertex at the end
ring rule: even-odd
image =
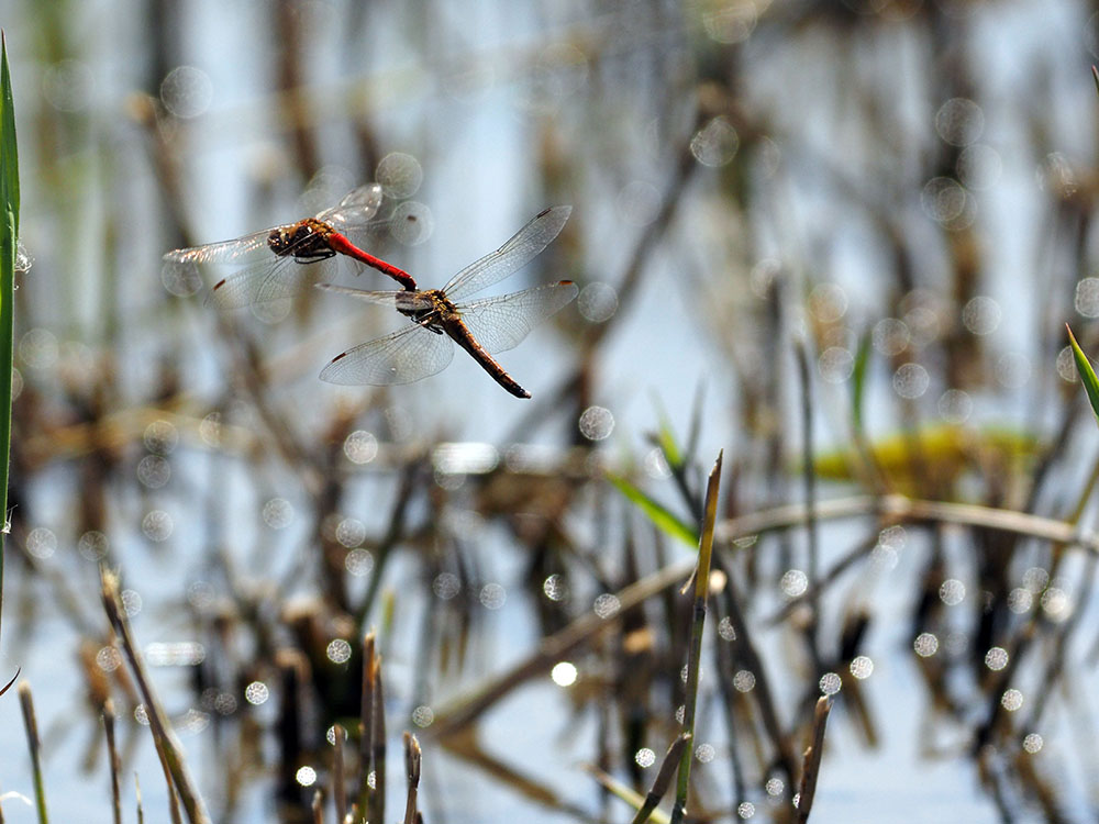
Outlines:
{"type": "Polygon", "coordinates": [[[344,386],[411,383],[442,371],[453,357],[451,338],[409,324],[337,355],[321,371],[321,380],[344,386]]]}

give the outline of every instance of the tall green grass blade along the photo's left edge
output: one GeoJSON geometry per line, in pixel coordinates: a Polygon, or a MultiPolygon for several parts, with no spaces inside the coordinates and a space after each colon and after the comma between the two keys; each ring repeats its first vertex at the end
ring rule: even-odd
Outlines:
{"type": "Polygon", "coordinates": [[[8,42],[0,33],[0,614],[8,524],[8,456],[11,452],[11,371],[14,339],[15,248],[19,238],[19,151],[15,108],[8,71],[8,42]]]}

